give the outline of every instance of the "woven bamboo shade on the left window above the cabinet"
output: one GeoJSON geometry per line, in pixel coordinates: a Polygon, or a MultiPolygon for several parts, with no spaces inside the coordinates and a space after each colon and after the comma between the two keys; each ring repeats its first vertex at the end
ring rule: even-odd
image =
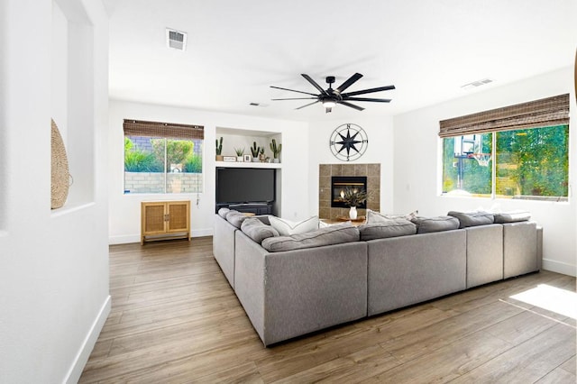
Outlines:
{"type": "Polygon", "coordinates": [[[205,128],[200,125],[124,120],[124,135],[203,140],[205,128]]]}

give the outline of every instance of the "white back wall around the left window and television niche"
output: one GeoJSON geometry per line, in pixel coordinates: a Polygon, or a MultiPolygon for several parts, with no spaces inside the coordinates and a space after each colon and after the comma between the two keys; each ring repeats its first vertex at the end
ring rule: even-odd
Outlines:
{"type": "MultiPolygon", "coordinates": [[[[192,235],[196,237],[212,234],[215,215],[215,138],[216,130],[219,128],[273,132],[282,135],[282,180],[279,183],[281,215],[292,220],[307,217],[309,207],[306,183],[309,148],[307,141],[303,140],[307,138],[307,123],[111,100],[108,141],[110,243],[140,242],[140,204],[145,200],[189,199],[192,235]],[[203,125],[204,193],[124,195],[124,119],[203,125]]],[[[248,145],[253,139],[251,137],[247,142],[245,153],[251,153],[248,151],[248,145]]],[[[223,154],[234,155],[233,145],[240,145],[241,142],[235,141],[235,143],[226,142],[224,139],[223,154]]]]}

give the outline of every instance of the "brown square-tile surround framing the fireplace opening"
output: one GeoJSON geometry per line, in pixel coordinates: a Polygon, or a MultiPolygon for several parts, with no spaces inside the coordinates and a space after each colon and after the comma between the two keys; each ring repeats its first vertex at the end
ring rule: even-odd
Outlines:
{"type": "MultiPolygon", "coordinates": [[[[318,216],[321,219],[336,220],[348,216],[349,208],[331,208],[331,178],[333,176],[366,176],[367,208],[380,211],[380,164],[320,164],[318,166],[318,216]]],[[[358,215],[366,215],[365,209],[358,209],[358,215]]]]}

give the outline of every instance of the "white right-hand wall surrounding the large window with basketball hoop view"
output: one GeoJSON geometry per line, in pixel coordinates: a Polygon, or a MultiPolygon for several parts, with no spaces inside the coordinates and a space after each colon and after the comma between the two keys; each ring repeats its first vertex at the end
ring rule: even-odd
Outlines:
{"type": "Polygon", "coordinates": [[[574,114],[577,109],[572,70],[560,69],[395,116],[395,210],[402,213],[418,209],[421,215],[446,215],[450,210],[468,211],[491,206],[504,211],[527,209],[532,218],[544,227],[544,269],[575,276],[577,204],[573,191],[577,180],[577,127],[574,123],[570,126],[569,203],[441,197],[441,147],[437,136],[440,120],[547,96],[571,93],[571,111],[574,114]]]}

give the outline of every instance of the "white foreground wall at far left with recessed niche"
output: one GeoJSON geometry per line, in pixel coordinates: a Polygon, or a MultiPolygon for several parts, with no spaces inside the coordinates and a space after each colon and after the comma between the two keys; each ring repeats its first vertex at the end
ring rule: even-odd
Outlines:
{"type": "Polygon", "coordinates": [[[105,10],[99,0],[8,0],[0,19],[0,382],[76,382],[110,306],[106,181],[90,169],[90,201],[50,210],[50,117],[68,148],[70,133],[98,132],[84,140],[91,162],[105,162],[105,10]],[[53,70],[69,60],[67,19],[92,36],[76,77],[53,70]],[[54,89],[74,81],[91,84],[92,103],[76,112],[87,112],[83,126],[69,123],[74,95],[54,89]]]}

